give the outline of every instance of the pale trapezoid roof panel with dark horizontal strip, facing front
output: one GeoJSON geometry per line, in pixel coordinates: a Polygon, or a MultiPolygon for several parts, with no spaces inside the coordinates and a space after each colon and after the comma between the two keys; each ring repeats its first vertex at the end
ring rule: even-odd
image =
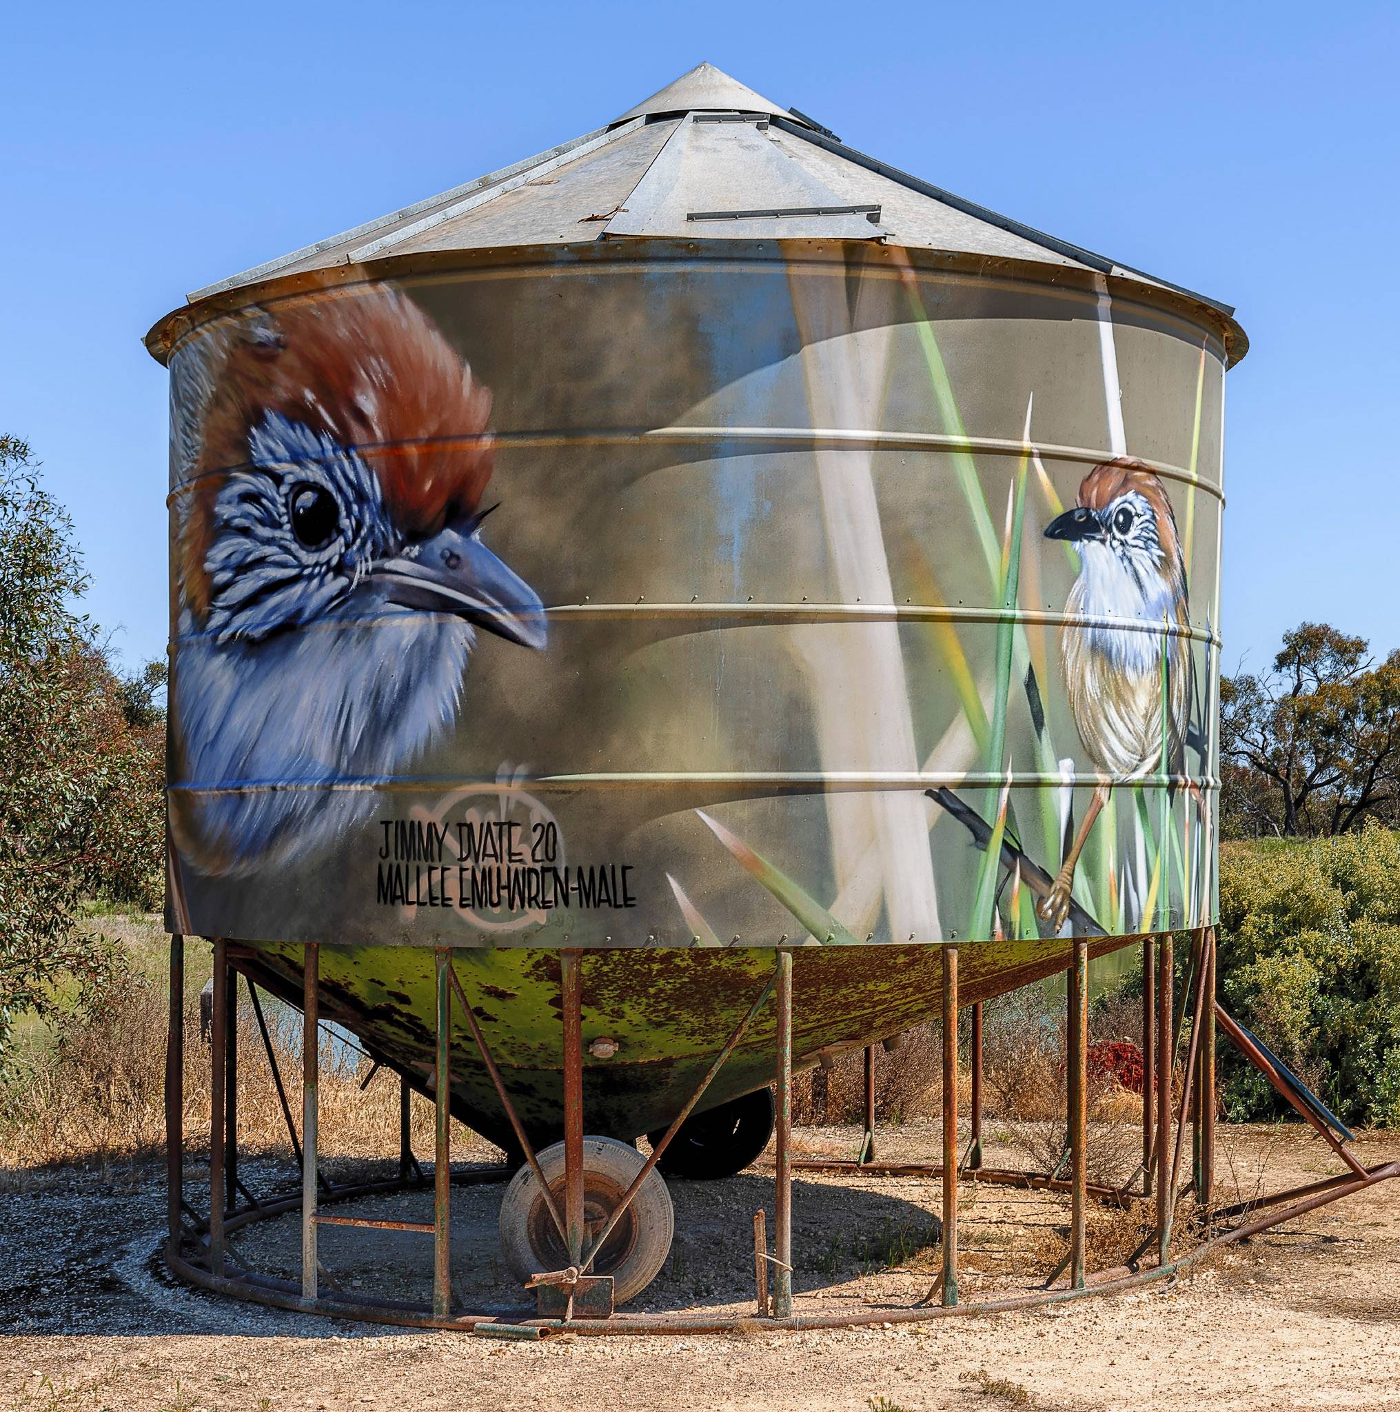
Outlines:
{"type": "Polygon", "coordinates": [[[857,199],[837,195],[780,150],[775,137],[768,121],[711,123],[687,116],[604,234],[704,240],[872,240],[885,234],[878,212],[843,209],[857,199]]]}

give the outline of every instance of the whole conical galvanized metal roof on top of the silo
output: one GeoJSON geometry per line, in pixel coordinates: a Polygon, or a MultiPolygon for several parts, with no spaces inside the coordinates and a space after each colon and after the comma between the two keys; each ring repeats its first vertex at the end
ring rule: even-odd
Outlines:
{"type": "MultiPolygon", "coordinates": [[[[1090,271],[1233,309],[955,196],[847,147],[710,64],[570,143],[196,289],[205,299],[364,261],[638,237],[871,240],[1090,271]]],[[[1232,357],[1232,360],[1233,360],[1232,357]]]]}

